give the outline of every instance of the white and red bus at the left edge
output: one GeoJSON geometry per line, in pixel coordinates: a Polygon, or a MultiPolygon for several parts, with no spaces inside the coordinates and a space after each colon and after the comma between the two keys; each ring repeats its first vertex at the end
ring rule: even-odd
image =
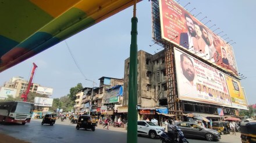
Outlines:
{"type": "Polygon", "coordinates": [[[0,102],[0,122],[30,123],[34,104],[23,101],[0,102]]]}

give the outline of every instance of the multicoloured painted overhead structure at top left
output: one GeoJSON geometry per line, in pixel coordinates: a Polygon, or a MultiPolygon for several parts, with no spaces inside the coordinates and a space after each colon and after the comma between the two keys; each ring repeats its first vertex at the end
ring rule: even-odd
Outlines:
{"type": "Polygon", "coordinates": [[[2,0],[0,72],[133,4],[133,0],[2,0]]]}

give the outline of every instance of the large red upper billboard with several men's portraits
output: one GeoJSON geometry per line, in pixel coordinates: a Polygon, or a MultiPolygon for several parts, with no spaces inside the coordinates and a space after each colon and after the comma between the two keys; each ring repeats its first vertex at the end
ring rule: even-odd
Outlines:
{"type": "Polygon", "coordinates": [[[162,39],[238,76],[233,48],[173,0],[159,0],[162,39]]]}

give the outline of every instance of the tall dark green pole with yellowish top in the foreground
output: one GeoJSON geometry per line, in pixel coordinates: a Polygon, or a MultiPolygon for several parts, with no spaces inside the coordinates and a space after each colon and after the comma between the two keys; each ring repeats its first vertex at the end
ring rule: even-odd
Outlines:
{"type": "Polygon", "coordinates": [[[130,69],[129,69],[129,99],[128,99],[128,120],[127,143],[137,143],[137,23],[136,3],[134,0],[133,17],[131,18],[131,45],[130,45],[130,69]]]}

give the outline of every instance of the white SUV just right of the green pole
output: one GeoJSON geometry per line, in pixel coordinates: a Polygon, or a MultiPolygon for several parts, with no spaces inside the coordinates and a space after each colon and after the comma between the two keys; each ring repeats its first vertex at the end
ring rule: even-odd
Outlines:
{"type": "Polygon", "coordinates": [[[163,133],[163,127],[146,120],[138,120],[137,127],[138,135],[148,135],[150,138],[155,138],[163,133]]]}

